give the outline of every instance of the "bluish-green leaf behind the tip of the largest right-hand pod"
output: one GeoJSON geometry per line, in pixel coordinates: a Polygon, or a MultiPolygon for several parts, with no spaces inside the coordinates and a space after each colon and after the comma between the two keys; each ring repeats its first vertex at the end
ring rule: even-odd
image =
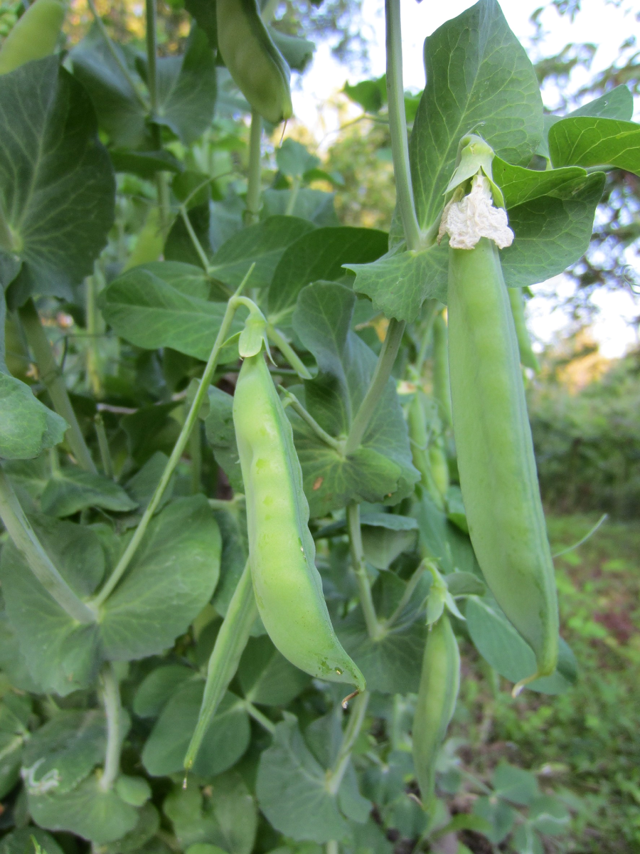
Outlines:
{"type": "MultiPolygon", "coordinates": [[[[475,648],[500,676],[517,682],[535,673],[536,661],[531,647],[518,635],[494,600],[469,599],[465,617],[475,648]]],[[[539,693],[558,694],[567,691],[575,679],[573,652],[560,639],[558,670],[551,676],[530,682],[527,688],[539,693]]]]}

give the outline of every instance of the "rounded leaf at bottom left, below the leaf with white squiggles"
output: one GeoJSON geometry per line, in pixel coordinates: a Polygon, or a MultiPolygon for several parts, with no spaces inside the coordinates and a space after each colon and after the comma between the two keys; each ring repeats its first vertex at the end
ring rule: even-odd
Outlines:
{"type": "Polygon", "coordinates": [[[103,792],[91,775],[71,792],[29,794],[29,811],[41,828],[68,830],[96,845],[113,842],[137,825],[137,810],[113,791],[103,792]]]}

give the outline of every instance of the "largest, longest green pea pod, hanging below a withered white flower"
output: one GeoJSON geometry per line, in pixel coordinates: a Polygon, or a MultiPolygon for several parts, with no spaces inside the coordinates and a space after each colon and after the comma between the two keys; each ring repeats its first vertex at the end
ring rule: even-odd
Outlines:
{"type": "Polygon", "coordinates": [[[493,595],[535,652],[533,679],[556,667],[558,611],[514,320],[495,243],[482,237],[449,253],[451,404],[469,535],[493,595]]]}

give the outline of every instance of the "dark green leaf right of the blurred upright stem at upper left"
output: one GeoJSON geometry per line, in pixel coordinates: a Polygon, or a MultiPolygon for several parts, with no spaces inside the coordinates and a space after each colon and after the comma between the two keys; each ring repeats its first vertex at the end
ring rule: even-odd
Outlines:
{"type": "Polygon", "coordinates": [[[216,104],[216,61],[205,33],[195,27],[184,56],[157,61],[158,110],[154,121],[166,125],[185,145],[207,130],[216,104]]]}

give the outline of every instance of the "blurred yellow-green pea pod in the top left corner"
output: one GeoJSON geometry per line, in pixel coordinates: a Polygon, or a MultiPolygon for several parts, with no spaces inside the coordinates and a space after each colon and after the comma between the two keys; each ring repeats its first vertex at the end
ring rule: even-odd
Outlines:
{"type": "Polygon", "coordinates": [[[0,74],[52,54],[64,18],[65,7],[59,0],[35,0],[4,39],[0,48],[0,74]]]}

